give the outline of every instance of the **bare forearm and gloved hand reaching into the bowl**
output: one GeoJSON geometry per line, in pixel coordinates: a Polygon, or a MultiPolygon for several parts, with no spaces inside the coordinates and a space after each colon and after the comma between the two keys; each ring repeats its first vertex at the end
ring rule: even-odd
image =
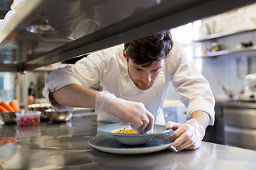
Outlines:
{"type": "Polygon", "coordinates": [[[95,108],[95,113],[112,115],[140,132],[151,131],[154,125],[154,116],[143,103],[117,98],[107,91],[95,91],[71,84],[50,93],[49,97],[51,101],[63,106],[95,108]]]}

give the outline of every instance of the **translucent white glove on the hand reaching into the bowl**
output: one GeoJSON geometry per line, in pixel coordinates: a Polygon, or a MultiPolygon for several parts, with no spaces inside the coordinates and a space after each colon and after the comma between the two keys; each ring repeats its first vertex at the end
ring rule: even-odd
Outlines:
{"type": "Polygon", "coordinates": [[[117,98],[107,91],[99,91],[95,103],[97,114],[110,114],[138,132],[149,132],[153,129],[154,115],[146,110],[143,103],[117,98]]]}

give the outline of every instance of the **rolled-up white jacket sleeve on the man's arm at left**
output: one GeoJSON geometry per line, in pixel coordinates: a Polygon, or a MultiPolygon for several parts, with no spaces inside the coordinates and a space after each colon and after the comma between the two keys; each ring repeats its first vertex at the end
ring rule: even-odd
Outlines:
{"type": "Polygon", "coordinates": [[[46,85],[43,89],[43,96],[48,103],[59,111],[73,110],[72,107],[61,106],[51,101],[49,94],[70,84],[78,84],[87,88],[96,84],[104,72],[105,67],[102,66],[107,65],[105,57],[100,56],[97,54],[89,55],[76,62],[75,65],[67,64],[64,68],[53,70],[46,79],[46,85]]]}

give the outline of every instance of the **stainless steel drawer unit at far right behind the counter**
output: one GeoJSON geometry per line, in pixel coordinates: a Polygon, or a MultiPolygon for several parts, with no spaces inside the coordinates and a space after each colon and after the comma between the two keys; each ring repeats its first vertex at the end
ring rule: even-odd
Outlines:
{"type": "Polygon", "coordinates": [[[225,145],[256,150],[256,103],[224,102],[225,145]]]}

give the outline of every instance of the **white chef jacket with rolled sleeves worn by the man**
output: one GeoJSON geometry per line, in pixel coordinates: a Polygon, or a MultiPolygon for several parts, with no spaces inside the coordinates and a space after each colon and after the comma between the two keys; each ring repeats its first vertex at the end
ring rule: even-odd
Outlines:
{"type": "MultiPolygon", "coordinates": [[[[118,98],[144,103],[144,106],[156,118],[156,123],[165,125],[162,106],[166,98],[169,83],[172,82],[187,107],[187,118],[194,111],[206,111],[210,115],[209,125],[214,123],[215,100],[208,81],[184,55],[181,47],[174,42],[169,57],[164,63],[159,79],[148,90],[140,90],[130,79],[127,60],[123,56],[124,45],[93,52],[75,65],[55,69],[50,73],[43,96],[60,111],[73,108],[60,106],[49,100],[49,92],[56,91],[69,84],[90,87],[100,81],[104,91],[118,98]]],[[[118,122],[112,116],[99,114],[97,120],[110,123],[118,122]]]]}

